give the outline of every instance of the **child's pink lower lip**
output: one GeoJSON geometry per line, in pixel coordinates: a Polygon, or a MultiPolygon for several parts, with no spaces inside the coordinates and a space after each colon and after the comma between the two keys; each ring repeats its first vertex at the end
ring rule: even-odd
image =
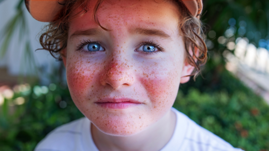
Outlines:
{"type": "Polygon", "coordinates": [[[139,105],[141,103],[132,103],[132,102],[118,102],[118,103],[112,103],[112,102],[105,102],[105,103],[97,103],[99,106],[104,108],[111,108],[111,109],[126,109],[129,107],[133,107],[136,105],[139,105]]]}

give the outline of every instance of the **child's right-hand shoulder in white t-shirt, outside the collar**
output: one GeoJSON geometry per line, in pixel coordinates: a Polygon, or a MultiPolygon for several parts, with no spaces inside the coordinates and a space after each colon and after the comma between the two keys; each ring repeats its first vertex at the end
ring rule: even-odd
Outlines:
{"type": "Polygon", "coordinates": [[[182,151],[242,151],[196,124],[185,114],[177,110],[175,112],[177,119],[184,118],[187,123],[186,133],[181,146],[182,151]]]}

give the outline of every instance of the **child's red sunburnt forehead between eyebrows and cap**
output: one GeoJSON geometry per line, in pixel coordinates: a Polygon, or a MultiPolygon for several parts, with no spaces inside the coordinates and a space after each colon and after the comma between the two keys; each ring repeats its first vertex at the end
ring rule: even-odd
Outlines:
{"type": "MultiPolygon", "coordinates": [[[[91,0],[88,12],[70,22],[69,32],[98,27],[92,19],[96,2],[97,0],[91,0]]],[[[80,11],[81,8],[78,8],[74,13],[80,11]]],[[[105,0],[97,11],[97,18],[103,27],[111,30],[122,28],[122,31],[135,27],[151,27],[173,32],[177,30],[179,15],[176,4],[166,0],[105,0]]]]}

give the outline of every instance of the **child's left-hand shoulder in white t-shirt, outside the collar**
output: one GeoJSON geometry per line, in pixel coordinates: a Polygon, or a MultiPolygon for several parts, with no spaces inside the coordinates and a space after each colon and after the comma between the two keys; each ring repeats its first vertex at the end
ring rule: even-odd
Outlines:
{"type": "Polygon", "coordinates": [[[86,117],[64,124],[40,141],[35,151],[73,151],[80,146],[81,128],[86,117]]]}

